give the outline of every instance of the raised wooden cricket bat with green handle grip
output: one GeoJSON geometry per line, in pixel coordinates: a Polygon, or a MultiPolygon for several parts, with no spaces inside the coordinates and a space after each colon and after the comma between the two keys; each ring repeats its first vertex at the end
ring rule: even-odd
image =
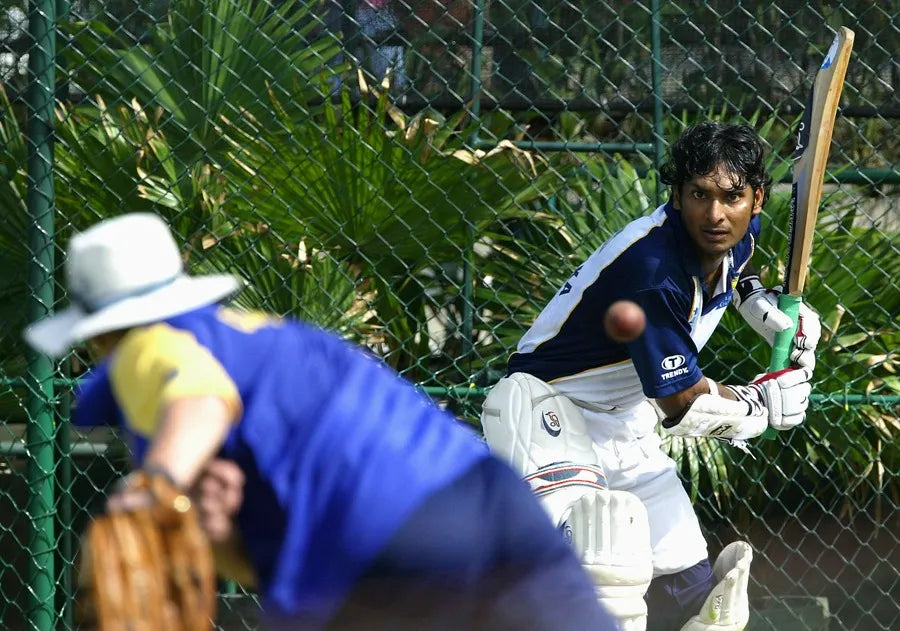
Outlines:
{"type": "MultiPolygon", "coordinates": [[[[769,362],[770,372],[787,368],[790,364],[791,341],[797,334],[797,316],[809,271],[809,257],[812,252],[816,217],[819,214],[819,201],[822,198],[825,165],[831,148],[831,134],[852,48],[853,31],[841,27],[816,73],[797,133],[797,148],[793,157],[787,266],[784,290],[778,298],[778,308],[790,316],[794,325],[775,335],[769,362]]],[[[771,435],[774,431],[769,428],[766,433],[771,435]]]]}

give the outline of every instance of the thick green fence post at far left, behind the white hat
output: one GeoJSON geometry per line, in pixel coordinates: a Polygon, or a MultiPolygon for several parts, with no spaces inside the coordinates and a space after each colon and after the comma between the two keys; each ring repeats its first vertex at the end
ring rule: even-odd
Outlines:
{"type": "MultiPolygon", "coordinates": [[[[53,152],[52,126],[55,95],[55,0],[29,3],[28,30],[28,194],[31,226],[28,235],[32,260],[28,270],[29,320],[45,316],[53,308],[53,152]]],[[[55,624],[54,570],[54,445],[53,364],[35,352],[28,355],[31,380],[28,398],[29,500],[27,516],[31,528],[28,546],[30,565],[26,591],[28,620],[33,629],[49,631],[55,624]]]]}

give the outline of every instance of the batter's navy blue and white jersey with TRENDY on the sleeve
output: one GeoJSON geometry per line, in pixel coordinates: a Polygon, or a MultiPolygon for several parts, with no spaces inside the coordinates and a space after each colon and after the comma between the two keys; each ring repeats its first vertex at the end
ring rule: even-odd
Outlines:
{"type": "Polygon", "coordinates": [[[759,226],[754,217],[725,257],[710,296],[680,212],[671,203],[632,221],[560,288],[519,341],[508,372],[578,384],[575,392],[590,393],[585,400],[610,410],[692,386],[702,377],[697,355],[753,255],[759,226]],[[606,310],[623,299],[639,304],[647,316],[643,335],[628,344],[610,339],[603,327],[606,310]]]}

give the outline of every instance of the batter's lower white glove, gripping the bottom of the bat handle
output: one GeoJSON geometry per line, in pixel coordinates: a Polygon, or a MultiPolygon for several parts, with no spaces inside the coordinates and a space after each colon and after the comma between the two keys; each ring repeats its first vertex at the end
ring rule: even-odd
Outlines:
{"type": "Polygon", "coordinates": [[[786,368],[758,376],[746,386],[726,386],[750,405],[751,414],[762,407],[768,411],[769,425],[777,430],[796,427],[806,418],[812,370],[786,368]]]}

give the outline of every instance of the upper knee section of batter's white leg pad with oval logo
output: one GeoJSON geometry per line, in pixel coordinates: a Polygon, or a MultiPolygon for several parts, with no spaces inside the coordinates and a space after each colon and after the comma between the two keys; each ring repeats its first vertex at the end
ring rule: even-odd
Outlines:
{"type": "Polygon", "coordinates": [[[537,377],[498,381],[482,405],[481,426],[491,451],[531,485],[554,524],[579,497],[606,488],[581,410],[537,377]]]}

